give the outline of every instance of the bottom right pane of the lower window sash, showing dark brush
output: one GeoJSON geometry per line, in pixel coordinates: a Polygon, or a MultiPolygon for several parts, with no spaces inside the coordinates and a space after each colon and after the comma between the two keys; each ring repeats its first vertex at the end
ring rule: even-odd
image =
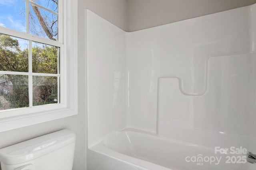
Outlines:
{"type": "Polygon", "coordinates": [[[58,103],[58,78],[33,76],[33,106],[58,103]]]}

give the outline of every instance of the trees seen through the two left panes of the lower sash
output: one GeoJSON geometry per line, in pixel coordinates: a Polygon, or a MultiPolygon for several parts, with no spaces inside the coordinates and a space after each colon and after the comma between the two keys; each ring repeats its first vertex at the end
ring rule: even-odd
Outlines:
{"type": "MultiPolygon", "coordinates": [[[[27,51],[20,50],[18,40],[0,34],[0,70],[28,72],[27,51]]],[[[0,107],[4,107],[3,109],[26,107],[28,105],[28,77],[1,74],[0,96],[2,96],[0,107]]]]}

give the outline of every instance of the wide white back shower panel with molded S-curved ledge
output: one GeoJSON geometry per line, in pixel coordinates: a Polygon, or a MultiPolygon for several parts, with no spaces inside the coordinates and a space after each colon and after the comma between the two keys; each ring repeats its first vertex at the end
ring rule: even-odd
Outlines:
{"type": "Polygon", "coordinates": [[[200,142],[207,134],[255,137],[254,131],[245,129],[256,127],[250,120],[256,118],[256,89],[243,86],[255,85],[255,55],[249,55],[254,52],[255,14],[255,5],[247,6],[128,33],[128,126],[191,142],[200,142]],[[234,71],[238,75],[228,74],[228,68],[221,72],[229,63],[222,57],[211,63],[213,56],[229,56],[233,65],[228,68],[239,68],[234,71]],[[210,71],[208,64],[213,64],[210,71]],[[232,76],[238,79],[224,79],[232,76]],[[216,82],[207,84],[208,77],[216,82]],[[219,96],[214,99],[210,93],[219,96]]]}

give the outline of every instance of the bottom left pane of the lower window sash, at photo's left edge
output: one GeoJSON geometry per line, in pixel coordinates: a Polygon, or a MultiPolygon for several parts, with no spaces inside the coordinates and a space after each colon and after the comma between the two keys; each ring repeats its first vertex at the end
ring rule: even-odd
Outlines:
{"type": "Polygon", "coordinates": [[[0,110],[28,106],[28,76],[0,74],[0,110]]]}

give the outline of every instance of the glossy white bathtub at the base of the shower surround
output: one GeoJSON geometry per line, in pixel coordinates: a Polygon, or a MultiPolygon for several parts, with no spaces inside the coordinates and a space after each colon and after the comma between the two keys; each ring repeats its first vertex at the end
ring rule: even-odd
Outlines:
{"type": "Polygon", "coordinates": [[[98,159],[96,163],[102,164],[104,170],[255,170],[256,168],[256,165],[242,163],[242,160],[240,163],[228,163],[230,161],[226,158],[226,156],[235,156],[238,160],[238,157],[246,154],[215,154],[214,148],[170,140],[136,130],[113,131],[90,150],[108,157],[108,161],[98,159]],[[115,162],[111,163],[109,158],[114,159],[115,162]],[[118,161],[122,162],[122,165],[118,165],[118,161]],[[130,168],[124,168],[124,164],[129,165],[130,168]]]}

